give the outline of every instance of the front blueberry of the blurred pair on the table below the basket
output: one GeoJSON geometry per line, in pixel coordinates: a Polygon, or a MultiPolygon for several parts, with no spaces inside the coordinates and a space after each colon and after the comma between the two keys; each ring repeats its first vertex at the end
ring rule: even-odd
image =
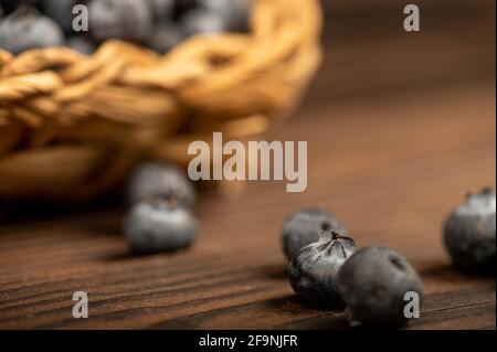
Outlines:
{"type": "Polygon", "coordinates": [[[131,248],[140,254],[186,248],[197,236],[198,224],[191,213],[173,199],[151,199],[136,204],[125,224],[131,248]]]}

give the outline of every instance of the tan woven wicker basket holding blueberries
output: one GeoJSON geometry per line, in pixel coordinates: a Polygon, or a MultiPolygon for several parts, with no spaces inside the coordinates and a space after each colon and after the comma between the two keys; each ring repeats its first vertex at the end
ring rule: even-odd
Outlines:
{"type": "Polygon", "coordinates": [[[0,196],[87,199],[139,160],[184,166],[188,143],[214,130],[263,132],[320,63],[318,0],[256,0],[251,28],[165,56],[120,41],[89,57],[0,50],[0,196]]]}

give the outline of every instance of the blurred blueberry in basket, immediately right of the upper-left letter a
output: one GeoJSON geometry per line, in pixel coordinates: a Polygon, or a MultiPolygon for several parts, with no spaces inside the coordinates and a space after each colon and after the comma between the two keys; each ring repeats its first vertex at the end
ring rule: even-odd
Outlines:
{"type": "Polygon", "coordinates": [[[97,41],[119,39],[144,43],[154,31],[148,1],[92,0],[88,17],[89,31],[97,41]]]}

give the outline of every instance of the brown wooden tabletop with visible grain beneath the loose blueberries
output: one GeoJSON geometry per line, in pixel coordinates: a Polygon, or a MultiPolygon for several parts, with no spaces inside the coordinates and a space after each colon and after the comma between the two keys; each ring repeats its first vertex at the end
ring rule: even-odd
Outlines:
{"type": "Polygon", "coordinates": [[[465,192],[495,186],[494,109],[491,84],[305,108],[268,140],[309,141],[307,192],[258,182],[205,194],[191,250],[130,256],[112,209],[3,225],[0,328],[346,328],[342,312],[298,302],[285,277],[282,222],[315,205],[419,270],[426,299],[410,328],[495,329],[495,279],[453,270],[440,231],[465,192]],[[76,290],[89,319],[72,318],[76,290]]]}

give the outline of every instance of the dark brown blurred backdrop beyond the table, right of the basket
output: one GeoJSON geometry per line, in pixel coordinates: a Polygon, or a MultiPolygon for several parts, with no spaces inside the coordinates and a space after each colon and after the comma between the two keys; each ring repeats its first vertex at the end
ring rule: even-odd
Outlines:
{"type": "Polygon", "coordinates": [[[326,58],[307,104],[495,79],[495,1],[324,0],[326,58]],[[402,9],[421,10],[406,33],[402,9]]]}

